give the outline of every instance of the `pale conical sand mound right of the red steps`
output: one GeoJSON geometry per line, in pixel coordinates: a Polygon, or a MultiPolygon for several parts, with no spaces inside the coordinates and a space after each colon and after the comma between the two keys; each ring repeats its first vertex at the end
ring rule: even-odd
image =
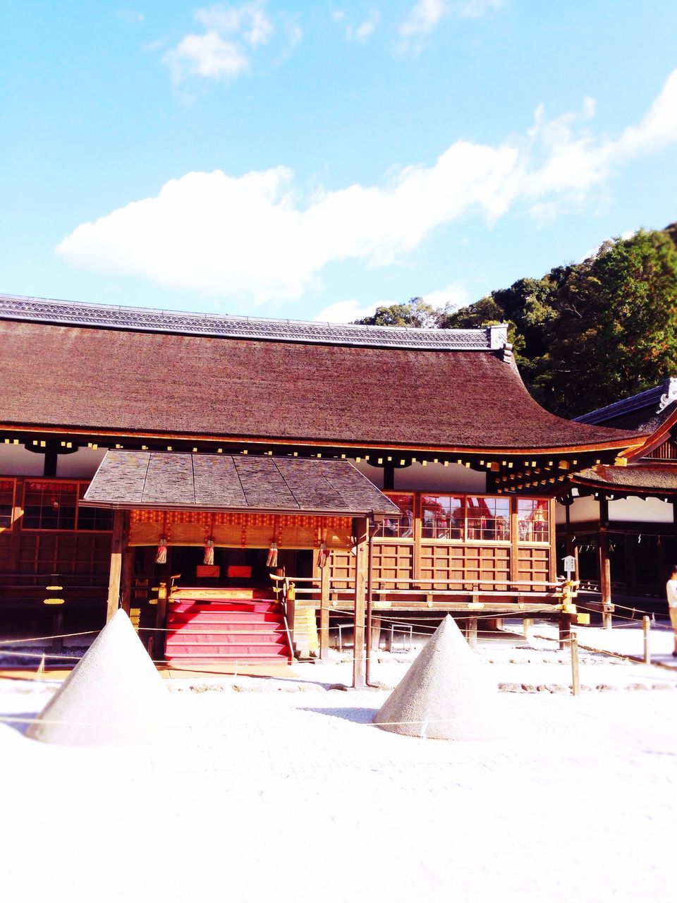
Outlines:
{"type": "Polygon", "coordinates": [[[433,740],[490,740],[500,733],[498,694],[447,615],[374,721],[384,731],[433,740]]]}

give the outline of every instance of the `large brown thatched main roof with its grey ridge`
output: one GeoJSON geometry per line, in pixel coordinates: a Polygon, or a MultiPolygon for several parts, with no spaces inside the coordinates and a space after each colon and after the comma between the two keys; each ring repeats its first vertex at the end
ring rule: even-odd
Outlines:
{"type": "Polygon", "coordinates": [[[0,296],[0,426],[433,452],[639,443],[544,411],[495,328],[207,319],[0,296]]]}

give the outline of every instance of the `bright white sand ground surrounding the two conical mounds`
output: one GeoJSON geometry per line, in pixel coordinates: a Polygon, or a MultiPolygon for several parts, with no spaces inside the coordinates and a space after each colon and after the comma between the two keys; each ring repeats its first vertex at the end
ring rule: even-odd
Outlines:
{"type": "MultiPolygon", "coordinates": [[[[522,669],[534,683],[567,668],[515,644],[480,654],[500,658],[496,675],[522,669]]],[[[638,680],[635,666],[587,667],[638,680]]],[[[507,736],[446,742],[374,727],[385,691],[316,683],[347,679],[348,664],[296,670],[298,682],[220,692],[170,682],[173,726],[155,746],[70,749],[0,723],[3,898],[672,898],[673,690],[502,693],[507,736]]],[[[37,712],[52,692],[2,681],[0,712],[37,712]]]]}

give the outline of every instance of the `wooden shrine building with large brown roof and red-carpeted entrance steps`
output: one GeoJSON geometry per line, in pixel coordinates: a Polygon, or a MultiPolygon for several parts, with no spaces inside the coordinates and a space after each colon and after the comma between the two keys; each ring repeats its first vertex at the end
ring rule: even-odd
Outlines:
{"type": "Polygon", "coordinates": [[[544,411],[505,325],[5,295],[0,369],[2,633],[49,633],[54,605],[64,630],[97,628],[121,604],[157,628],[156,659],[228,639],[265,657],[200,625],[290,582],[281,656],[325,652],[365,600],[384,624],[556,613],[555,498],[647,435],[544,411]]]}

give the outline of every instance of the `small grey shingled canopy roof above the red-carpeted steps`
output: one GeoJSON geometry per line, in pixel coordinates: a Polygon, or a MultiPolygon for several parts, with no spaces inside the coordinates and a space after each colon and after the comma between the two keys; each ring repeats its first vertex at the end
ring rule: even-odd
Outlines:
{"type": "Polygon", "coordinates": [[[400,510],[350,461],[111,450],[81,504],[366,517],[400,510]]]}

